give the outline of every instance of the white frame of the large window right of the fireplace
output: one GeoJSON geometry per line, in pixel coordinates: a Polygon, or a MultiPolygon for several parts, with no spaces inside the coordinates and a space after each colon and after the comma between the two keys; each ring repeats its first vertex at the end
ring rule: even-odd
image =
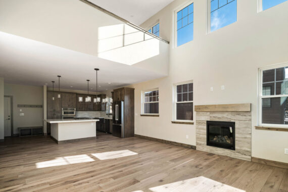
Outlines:
{"type": "Polygon", "coordinates": [[[288,94],[262,95],[263,71],[269,70],[269,69],[287,67],[287,66],[288,66],[288,63],[282,63],[282,64],[277,64],[277,65],[273,65],[273,66],[269,66],[269,67],[259,68],[259,70],[258,70],[258,125],[259,126],[288,128],[288,125],[283,125],[283,124],[262,123],[262,99],[263,98],[288,97],[288,94]]]}

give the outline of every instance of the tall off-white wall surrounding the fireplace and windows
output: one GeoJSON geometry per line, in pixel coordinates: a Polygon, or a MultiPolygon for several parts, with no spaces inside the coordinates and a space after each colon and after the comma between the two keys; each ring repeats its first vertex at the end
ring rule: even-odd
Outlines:
{"type": "Polygon", "coordinates": [[[173,11],[186,2],[174,1],[141,25],[160,20],[160,36],[170,40],[170,64],[168,77],[131,85],[135,133],[196,145],[195,125],[171,123],[173,84],[194,80],[194,105],[252,103],[252,156],[288,163],[288,132],[254,127],[258,68],[288,62],[288,2],[257,13],[256,0],[237,1],[237,22],[207,34],[207,1],[195,0],[194,40],[173,47],[173,11]],[[156,87],[160,117],[140,117],[140,91],[156,87]]]}

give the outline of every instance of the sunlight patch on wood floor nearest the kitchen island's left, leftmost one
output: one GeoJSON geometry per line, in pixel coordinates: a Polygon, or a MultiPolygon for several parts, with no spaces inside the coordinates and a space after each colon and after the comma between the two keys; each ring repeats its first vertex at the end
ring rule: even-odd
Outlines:
{"type": "Polygon", "coordinates": [[[54,160],[36,163],[36,168],[54,167],[60,165],[69,165],[75,163],[85,163],[95,161],[87,155],[75,155],[67,157],[57,157],[54,160]]]}

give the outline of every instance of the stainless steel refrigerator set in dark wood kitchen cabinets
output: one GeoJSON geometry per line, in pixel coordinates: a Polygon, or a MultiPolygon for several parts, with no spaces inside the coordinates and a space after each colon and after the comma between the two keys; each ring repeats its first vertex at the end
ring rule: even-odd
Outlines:
{"type": "Polygon", "coordinates": [[[124,102],[113,102],[113,135],[124,137],[124,102]]]}

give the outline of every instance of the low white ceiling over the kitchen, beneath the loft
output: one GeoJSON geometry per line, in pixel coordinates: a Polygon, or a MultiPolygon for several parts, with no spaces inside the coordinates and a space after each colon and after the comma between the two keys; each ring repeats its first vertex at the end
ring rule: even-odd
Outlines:
{"type": "Polygon", "coordinates": [[[87,90],[89,79],[90,88],[95,90],[94,68],[99,68],[98,91],[105,91],[163,77],[153,71],[4,32],[0,32],[0,58],[0,77],[4,77],[5,83],[38,86],[47,83],[51,87],[51,81],[58,83],[57,75],[61,75],[61,88],[87,90]]]}

